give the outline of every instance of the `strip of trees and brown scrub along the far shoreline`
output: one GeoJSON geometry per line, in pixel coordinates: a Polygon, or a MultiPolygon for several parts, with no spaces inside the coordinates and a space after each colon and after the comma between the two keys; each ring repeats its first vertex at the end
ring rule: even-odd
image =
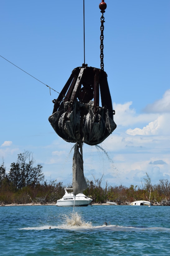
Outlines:
{"type": "MultiPolygon", "coordinates": [[[[0,165],[0,205],[4,204],[47,204],[56,203],[57,199],[64,195],[64,186],[57,180],[49,183],[44,180],[43,166],[35,165],[33,154],[30,151],[18,154],[16,162],[11,163],[7,173],[4,160],[0,165]]],[[[159,184],[152,185],[149,175],[146,173],[141,186],[131,185],[129,188],[123,185],[110,186],[108,182],[102,186],[102,179],[87,181],[88,188],[83,192],[91,196],[93,203],[128,204],[136,200],[147,200],[155,205],[170,205],[170,182],[159,180],[159,184]]]]}

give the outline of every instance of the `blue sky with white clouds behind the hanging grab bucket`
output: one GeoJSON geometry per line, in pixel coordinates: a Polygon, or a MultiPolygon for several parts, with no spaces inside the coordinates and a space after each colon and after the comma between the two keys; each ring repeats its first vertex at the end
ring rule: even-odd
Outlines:
{"type": "MultiPolygon", "coordinates": [[[[146,173],[158,184],[170,180],[170,1],[105,2],[103,61],[117,128],[99,147],[83,145],[84,175],[103,175],[103,187],[141,187],[146,173]]],[[[99,3],[85,0],[85,63],[96,68],[99,3]]],[[[84,63],[83,0],[1,1],[0,23],[0,164],[9,172],[29,150],[45,180],[71,184],[74,143],[48,117],[84,63]]]]}

